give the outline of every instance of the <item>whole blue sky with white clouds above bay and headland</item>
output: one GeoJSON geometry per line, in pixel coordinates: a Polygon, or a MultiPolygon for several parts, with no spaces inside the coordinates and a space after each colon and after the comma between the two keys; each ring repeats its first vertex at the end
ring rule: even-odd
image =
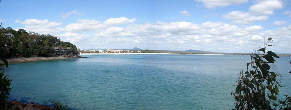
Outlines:
{"type": "Polygon", "coordinates": [[[2,0],[4,28],[80,49],[290,53],[290,0],[2,0]]]}

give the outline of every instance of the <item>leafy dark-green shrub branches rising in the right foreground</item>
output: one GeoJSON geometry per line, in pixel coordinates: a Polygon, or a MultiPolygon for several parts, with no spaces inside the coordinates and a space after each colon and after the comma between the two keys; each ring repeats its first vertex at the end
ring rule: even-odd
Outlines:
{"type": "Polygon", "coordinates": [[[282,110],[284,107],[283,110],[290,110],[288,95],[285,95],[285,101],[277,100],[276,97],[279,95],[278,86],[281,85],[278,82],[281,75],[276,73],[275,67],[268,65],[276,62],[273,57],[279,58],[272,51],[265,52],[267,46],[272,46],[268,45],[270,41],[272,38],[267,40],[264,48],[251,55],[251,62],[246,64],[246,72],[240,71],[235,92],[231,93],[236,100],[235,109],[232,110],[282,110]],[[263,53],[259,54],[260,52],[263,53]]]}

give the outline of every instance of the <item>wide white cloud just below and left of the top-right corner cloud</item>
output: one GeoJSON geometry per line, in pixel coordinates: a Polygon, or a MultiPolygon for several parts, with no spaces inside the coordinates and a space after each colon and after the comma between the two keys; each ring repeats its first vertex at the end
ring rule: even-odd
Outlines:
{"type": "Polygon", "coordinates": [[[239,24],[239,25],[246,25],[246,24],[253,24],[256,21],[267,21],[269,18],[266,15],[255,16],[252,15],[250,12],[243,12],[243,11],[232,11],[226,15],[222,15],[224,19],[233,20],[232,23],[239,24]]]}

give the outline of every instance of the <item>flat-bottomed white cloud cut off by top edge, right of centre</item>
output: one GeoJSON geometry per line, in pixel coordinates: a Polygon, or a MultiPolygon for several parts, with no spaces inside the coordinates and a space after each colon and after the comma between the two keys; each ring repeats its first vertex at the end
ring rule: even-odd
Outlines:
{"type": "Polygon", "coordinates": [[[225,7],[230,5],[246,3],[248,0],[195,0],[195,1],[202,2],[203,3],[202,6],[205,6],[208,9],[213,9],[216,7],[225,7]]]}

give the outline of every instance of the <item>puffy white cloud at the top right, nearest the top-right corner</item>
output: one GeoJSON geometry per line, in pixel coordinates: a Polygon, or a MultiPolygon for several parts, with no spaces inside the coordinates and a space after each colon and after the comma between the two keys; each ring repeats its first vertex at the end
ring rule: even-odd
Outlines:
{"type": "Polygon", "coordinates": [[[255,15],[274,15],[274,10],[282,9],[282,2],[279,0],[266,0],[249,7],[249,11],[255,15]]]}

